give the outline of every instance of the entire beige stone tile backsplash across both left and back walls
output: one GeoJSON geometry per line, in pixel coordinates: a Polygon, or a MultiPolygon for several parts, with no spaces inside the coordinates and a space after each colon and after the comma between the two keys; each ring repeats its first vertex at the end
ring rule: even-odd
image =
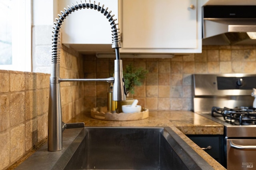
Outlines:
{"type": "MultiPolygon", "coordinates": [[[[80,55],[62,47],[61,78],[106,78],[114,58],[80,55]]],[[[192,110],[192,74],[256,73],[256,46],[204,46],[202,53],[172,59],[126,59],[149,70],[131,95],[150,110],[192,110]]],[[[50,74],[0,70],[0,170],[46,141],[50,74]]],[[[106,106],[108,83],[61,83],[62,117],[67,122],[83,110],[106,106]]]]}

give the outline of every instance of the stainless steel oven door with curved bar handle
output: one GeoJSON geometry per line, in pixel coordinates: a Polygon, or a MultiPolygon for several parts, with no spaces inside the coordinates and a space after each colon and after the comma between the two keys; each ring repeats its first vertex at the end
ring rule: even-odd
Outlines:
{"type": "Polygon", "coordinates": [[[256,170],[256,138],[227,139],[227,169],[256,170]]]}

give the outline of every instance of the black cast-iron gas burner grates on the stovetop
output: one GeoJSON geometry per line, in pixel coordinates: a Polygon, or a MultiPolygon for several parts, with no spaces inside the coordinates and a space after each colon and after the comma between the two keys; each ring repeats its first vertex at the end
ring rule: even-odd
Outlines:
{"type": "Polygon", "coordinates": [[[232,125],[256,125],[256,108],[253,107],[212,107],[212,116],[222,116],[232,125]]]}

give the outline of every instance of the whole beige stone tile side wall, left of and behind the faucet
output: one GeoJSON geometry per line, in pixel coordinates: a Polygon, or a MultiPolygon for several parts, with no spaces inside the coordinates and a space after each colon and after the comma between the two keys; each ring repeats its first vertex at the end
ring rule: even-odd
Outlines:
{"type": "MultiPolygon", "coordinates": [[[[82,57],[62,47],[61,78],[83,77],[82,57]],[[81,71],[78,71],[81,70],[81,71]]],[[[46,141],[50,74],[0,70],[0,170],[46,141]]],[[[62,82],[62,120],[84,110],[83,84],[62,82]]]]}

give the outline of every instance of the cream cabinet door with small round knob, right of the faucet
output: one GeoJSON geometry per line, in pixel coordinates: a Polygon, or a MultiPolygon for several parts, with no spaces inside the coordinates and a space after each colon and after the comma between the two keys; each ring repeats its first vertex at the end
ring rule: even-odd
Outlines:
{"type": "Polygon", "coordinates": [[[201,8],[197,6],[197,0],[121,0],[121,50],[175,52],[180,50],[172,49],[199,48],[200,52],[197,10],[201,8]]]}

